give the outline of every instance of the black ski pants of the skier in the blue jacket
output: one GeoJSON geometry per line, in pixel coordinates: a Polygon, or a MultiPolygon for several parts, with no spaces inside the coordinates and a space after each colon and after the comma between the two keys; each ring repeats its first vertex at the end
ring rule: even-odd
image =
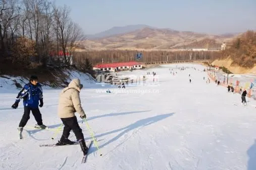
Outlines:
{"type": "Polygon", "coordinates": [[[28,106],[24,106],[24,114],[22,116],[22,119],[20,121],[19,127],[24,127],[28,120],[29,120],[29,115],[30,115],[30,111],[32,111],[32,114],[35,118],[35,121],[37,122],[37,125],[42,125],[42,115],[40,113],[39,108],[32,108],[32,107],[28,107],[28,106]]]}

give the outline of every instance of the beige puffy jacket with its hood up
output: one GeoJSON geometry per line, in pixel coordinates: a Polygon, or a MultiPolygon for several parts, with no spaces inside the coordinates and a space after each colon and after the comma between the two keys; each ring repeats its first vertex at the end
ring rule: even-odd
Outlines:
{"type": "Polygon", "coordinates": [[[75,112],[78,112],[81,116],[85,115],[79,96],[80,85],[79,79],[73,79],[68,87],[62,90],[58,107],[60,118],[72,118],[75,116],[75,112]]]}

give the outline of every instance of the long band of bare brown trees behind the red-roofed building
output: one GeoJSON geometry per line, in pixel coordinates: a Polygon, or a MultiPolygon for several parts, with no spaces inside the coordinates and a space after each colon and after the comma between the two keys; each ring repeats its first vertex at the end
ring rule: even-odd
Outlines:
{"type": "Polygon", "coordinates": [[[74,52],[74,63],[79,67],[88,58],[93,65],[104,63],[117,63],[136,61],[136,54],[142,53],[142,59],[138,62],[160,62],[180,60],[213,60],[219,57],[216,51],[137,51],[137,50],[99,50],[74,52]]]}

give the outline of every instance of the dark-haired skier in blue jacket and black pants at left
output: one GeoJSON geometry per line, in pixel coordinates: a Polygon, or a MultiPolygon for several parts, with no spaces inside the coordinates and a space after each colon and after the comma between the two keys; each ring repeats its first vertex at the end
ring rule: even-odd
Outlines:
{"type": "Polygon", "coordinates": [[[23,98],[24,114],[20,121],[18,131],[20,132],[20,138],[22,139],[22,130],[29,120],[30,111],[32,111],[32,114],[37,122],[37,125],[35,125],[35,128],[41,128],[41,129],[47,128],[42,123],[42,115],[38,108],[38,105],[40,107],[43,106],[43,95],[42,95],[42,86],[40,83],[38,83],[37,76],[30,77],[29,83],[25,84],[22,90],[18,93],[18,96],[16,98],[15,103],[12,105],[12,108],[16,109],[18,107],[18,104],[21,98],[23,98]],[[39,101],[40,101],[40,104],[39,104],[39,101]]]}

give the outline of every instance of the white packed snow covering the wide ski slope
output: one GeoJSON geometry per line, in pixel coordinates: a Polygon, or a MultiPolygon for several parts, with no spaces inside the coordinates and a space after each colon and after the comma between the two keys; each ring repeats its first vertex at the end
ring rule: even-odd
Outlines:
{"type": "MultiPolygon", "coordinates": [[[[22,102],[11,108],[18,89],[2,90],[0,169],[255,170],[256,101],[246,98],[247,106],[241,105],[240,94],[228,93],[214,82],[207,84],[203,69],[180,64],[118,73],[147,77],[125,89],[87,84],[80,97],[99,150],[93,143],[85,164],[79,145],[39,147],[57,143],[62,135],[57,131],[62,123],[57,115],[60,89],[44,89],[44,106],[39,108],[43,124],[53,129],[34,129],[31,114],[22,140],[17,131],[22,102]]],[[[91,140],[86,124],[77,117],[85,140],[91,140]]],[[[70,139],[76,140],[72,132],[70,139]]]]}

